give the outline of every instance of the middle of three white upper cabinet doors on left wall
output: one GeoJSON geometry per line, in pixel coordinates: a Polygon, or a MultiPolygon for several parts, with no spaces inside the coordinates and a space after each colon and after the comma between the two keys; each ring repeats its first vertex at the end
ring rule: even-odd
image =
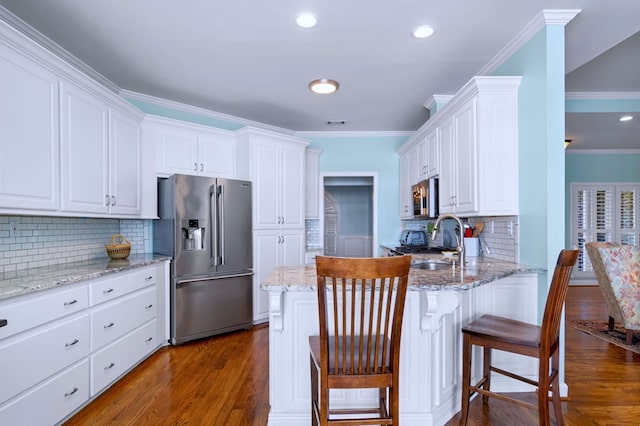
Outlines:
{"type": "Polygon", "coordinates": [[[107,104],[70,84],[61,83],[62,209],[109,211],[109,139],[107,104]]]}

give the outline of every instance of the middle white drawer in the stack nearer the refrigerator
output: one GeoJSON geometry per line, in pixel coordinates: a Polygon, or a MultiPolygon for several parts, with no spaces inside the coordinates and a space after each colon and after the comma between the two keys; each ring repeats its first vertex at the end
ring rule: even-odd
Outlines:
{"type": "Polygon", "coordinates": [[[155,318],[156,303],[154,286],[96,308],[91,313],[91,351],[155,318]]]}

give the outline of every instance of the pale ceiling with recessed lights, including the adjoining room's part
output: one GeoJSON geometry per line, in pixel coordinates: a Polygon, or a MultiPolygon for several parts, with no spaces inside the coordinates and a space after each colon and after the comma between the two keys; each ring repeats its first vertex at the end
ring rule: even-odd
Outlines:
{"type": "MultiPolygon", "coordinates": [[[[293,131],[415,130],[432,95],[455,93],[543,9],[582,10],[566,27],[567,91],[640,93],[639,0],[0,4],[121,89],[293,131]],[[294,25],[303,10],[317,15],[316,28],[294,25]],[[420,24],[435,35],[412,38],[420,24]],[[308,82],[323,77],[340,90],[312,94],[308,82]]],[[[620,127],[607,116],[567,114],[572,148],[640,148],[640,116],[613,139],[620,127]]]]}

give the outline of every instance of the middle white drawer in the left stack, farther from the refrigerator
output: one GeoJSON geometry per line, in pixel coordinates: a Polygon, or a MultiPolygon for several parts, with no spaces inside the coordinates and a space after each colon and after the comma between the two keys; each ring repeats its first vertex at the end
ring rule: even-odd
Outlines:
{"type": "Polygon", "coordinates": [[[0,343],[0,403],[89,355],[89,315],[0,343]]]}

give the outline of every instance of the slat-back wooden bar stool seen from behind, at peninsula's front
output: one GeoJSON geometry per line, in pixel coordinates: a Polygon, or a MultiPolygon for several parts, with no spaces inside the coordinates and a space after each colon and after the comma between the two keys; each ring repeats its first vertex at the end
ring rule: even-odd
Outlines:
{"type": "Polygon", "coordinates": [[[316,257],[320,336],[309,337],[312,425],[398,424],[410,263],[410,256],[316,257]],[[363,388],[379,390],[376,408],[329,407],[330,389],[363,388]]]}

